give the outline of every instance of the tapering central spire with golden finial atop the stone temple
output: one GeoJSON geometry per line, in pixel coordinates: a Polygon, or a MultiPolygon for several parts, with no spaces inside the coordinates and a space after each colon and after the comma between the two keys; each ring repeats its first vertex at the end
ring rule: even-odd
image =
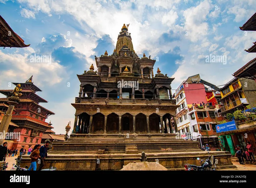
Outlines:
{"type": "Polygon", "coordinates": [[[117,42],[116,42],[116,53],[118,54],[119,51],[123,48],[124,44],[126,44],[127,48],[133,51],[133,45],[132,45],[132,38],[130,33],[128,33],[128,26],[124,26],[121,29],[121,32],[119,33],[117,37],[117,42]]]}

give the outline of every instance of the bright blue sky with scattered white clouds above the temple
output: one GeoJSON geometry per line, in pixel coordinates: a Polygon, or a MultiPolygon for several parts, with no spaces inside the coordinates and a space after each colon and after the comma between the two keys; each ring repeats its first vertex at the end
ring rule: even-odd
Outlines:
{"type": "MultiPolygon", "coordinates": [[[[27,48],[0,48],[0,89],[9,82],[33,82],[49,101],[56,133],[73,127],[78,96],[76,74],[83,74],[94,55],[111,54],[123,24],[129,24],[134,50],[158,57],[157,67],[175,78],[177,89],[188,76],[200,74],[215,85],[255,58],[247,53],[256,32],[239,29],[256,10],[255,0],[0,0],[0,14],[27,48]],[[31,62],[31,55],[49,55],[51,63],[31,62]],[[206,62],[205,56],[226,55],[227,63],[206,62]],[[69,87],[68,87],[69,86],[69,87]]],[[[174,91],[172,91],[174,92],[174,91]]],[[[3,95],[1,97],[4,97],[3,95]]]]}

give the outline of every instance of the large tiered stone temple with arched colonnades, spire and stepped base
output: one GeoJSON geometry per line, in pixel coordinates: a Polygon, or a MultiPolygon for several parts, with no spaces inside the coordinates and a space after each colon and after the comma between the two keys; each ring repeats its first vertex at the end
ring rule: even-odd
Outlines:
{"type": "MultiPolygon", "coordinates": [[[[131,33],[124,26],[116,49],[95,56],[98,67],[78,74],[78,97],[73,131],[67,141],[54,141],[46,167],[58,170],[120,170],[140,161],[145,152],[149,162],[157,161],[168,169],[184,169],[197,164],[197,157],[208,154],[194,140],[176,137],[176,101],[172,99],[174,78],[153,67],[150,56],[139,58],[131,33]],[[174,119],[174,124],[170,119],[174,119]],[[170,125],[170,126],[169,126],[170,125]]],[[[71,128],[72,129],[72,128],[71,128]]],[[[234,167],[228,152],[211,152],[219,168],[234,167]]],[[[24,159],[29,164],[29,158],[24,159]]]]}

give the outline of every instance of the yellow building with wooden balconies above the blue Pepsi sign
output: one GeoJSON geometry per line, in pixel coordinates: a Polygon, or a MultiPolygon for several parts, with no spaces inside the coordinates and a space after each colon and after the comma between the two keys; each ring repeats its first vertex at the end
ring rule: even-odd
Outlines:
{"type": "Polygon", "coordinates": [[[233,78],[220,89],[220,114],[234,113],[237,108],[244,110],[249,105],[244,87],[248,87],[246,82],[241,82],[239,78],[233,78]]]}

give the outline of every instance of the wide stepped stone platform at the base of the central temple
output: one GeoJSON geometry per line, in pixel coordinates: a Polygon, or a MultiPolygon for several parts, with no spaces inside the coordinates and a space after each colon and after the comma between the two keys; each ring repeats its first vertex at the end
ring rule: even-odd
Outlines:
{"type": "MultiPolygon", "coordinates": [[[[197,157],[209,156],[199,149],[198,142],[176,139],[175,134],[71,134],[67,141],[56,141],[52,146],[45,168],[54,166],[57,170],[120,170],[140,161],[142,151],[148,162],[158,161],[169,170],[184,170],[184,164],[199,165],[197,157]]],[[[236,168],[229,152],[212,151],[210,155],[218,160],[217,168],[236,168]]],[[[29,165],[29,156],[23,157],[22,166],[29,165]]]]}

